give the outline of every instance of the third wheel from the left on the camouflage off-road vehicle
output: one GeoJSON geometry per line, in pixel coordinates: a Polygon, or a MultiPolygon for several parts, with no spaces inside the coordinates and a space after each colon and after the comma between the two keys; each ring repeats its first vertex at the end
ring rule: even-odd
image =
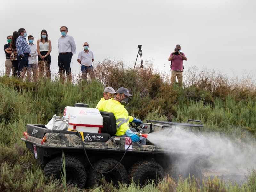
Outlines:
{"type": "Polygon", "coordinates": [[[149,180],[157,182],[158,178],[163,179],[165,175],[164,169],[153,161],[138,161],[129,169],[129,181],[133,181],[136,185],[143,186],[149,180]]]}

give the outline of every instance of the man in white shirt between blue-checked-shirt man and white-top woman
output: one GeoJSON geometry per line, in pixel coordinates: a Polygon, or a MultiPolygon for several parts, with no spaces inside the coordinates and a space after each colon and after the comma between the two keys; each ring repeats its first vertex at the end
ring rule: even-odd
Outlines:
{"type": "Polygon", "coordinates": [[[28,36],[28,46],[30,47],[30,54],[28,56],[28,81],[30,81],[31,69],[33,71],[33,79],[36,80],[38,74],[38,63],[37,63],[37,50],[36,44],[34,44],[34,37],[32,35],[28,36]]]}

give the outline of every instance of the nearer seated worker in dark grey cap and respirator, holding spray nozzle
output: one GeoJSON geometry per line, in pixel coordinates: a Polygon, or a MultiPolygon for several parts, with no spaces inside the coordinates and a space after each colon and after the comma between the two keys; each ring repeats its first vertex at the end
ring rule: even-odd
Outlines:
{"type": "MultiPolygon", "coordinates": [[[[121,87],[116,91],[115,98],[111,98],[104,102],[99,103],[98,110],[112,112],[116,118],[116,136],[119,137],[130,137],[133,142],[137,143],[140,141],[141,145],[146,144],[146,138],[139,137],[129,129],[129,116],[128,111],[124,108],[128,104],[128,97],[132,96],[129,94],[128,89],[121,87]]],[[[133,118],[132,122],[140,124],[140,120],[133,118]]]]}

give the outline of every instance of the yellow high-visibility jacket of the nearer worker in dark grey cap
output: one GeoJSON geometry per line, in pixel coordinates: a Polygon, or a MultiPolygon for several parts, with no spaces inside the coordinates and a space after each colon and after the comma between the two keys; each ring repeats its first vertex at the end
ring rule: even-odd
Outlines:
{"type": "MultiPolygon", "coordinates": [[[[128,111],[120,102],[111,98],[98,105],[99,111],[112,112],[116,118],[116,136],[124,135],[129,129],[128,111]]],[[[133,120],[133,119],[132,119],[133,120]]]]}

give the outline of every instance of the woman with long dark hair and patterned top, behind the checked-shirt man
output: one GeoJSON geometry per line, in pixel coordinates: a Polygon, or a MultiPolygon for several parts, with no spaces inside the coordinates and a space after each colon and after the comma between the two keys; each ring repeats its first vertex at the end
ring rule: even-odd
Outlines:
{"type": "Polygon", "coordinates": [[[19,33],[17,31],[14,31],[13,34],[12,34],[12,40],[11,40],[11,43],[10,43],[10,48],[12,49],[10,60],[12,62],[12,75],[14,77],[17,77],[18,64],[19,64],[19,61],[17,60],[17,49],[16,49],[16,39],[18,37],[19,37],[19,33]]]}

